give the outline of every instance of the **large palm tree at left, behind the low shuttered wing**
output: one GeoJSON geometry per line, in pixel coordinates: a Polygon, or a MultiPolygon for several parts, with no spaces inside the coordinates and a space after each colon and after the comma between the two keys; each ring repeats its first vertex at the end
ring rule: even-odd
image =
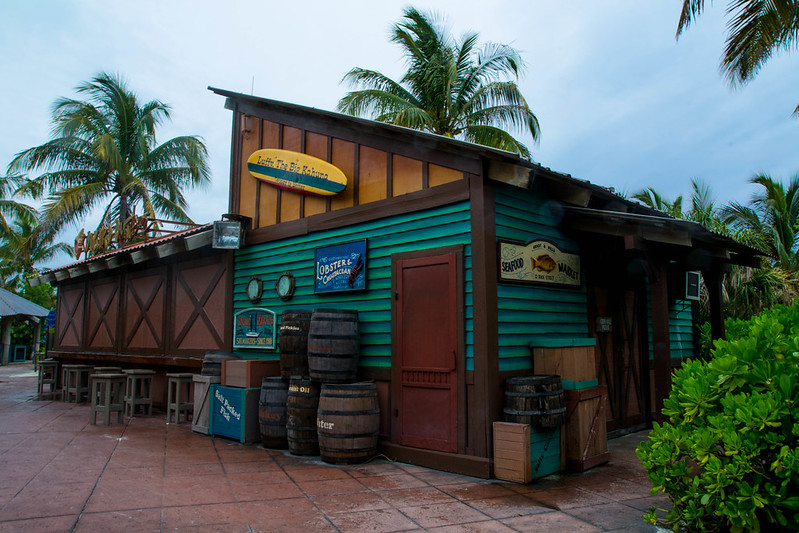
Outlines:
{"type": "Polygon", "coordinates": [[[118,77],[102,73],[80,85],[87,101],[59,99],[53,107],[53,138],[19,153],[9,172],[44,170],[20,193],[43,206],[44,222],[58,230],[105,207],[100,226],[142,214],[190,222],[183,189],[210,182],[207,150],[194,136],[156,144],[155,130],[170,118],[169,106],[140,105],[118,77]]]}

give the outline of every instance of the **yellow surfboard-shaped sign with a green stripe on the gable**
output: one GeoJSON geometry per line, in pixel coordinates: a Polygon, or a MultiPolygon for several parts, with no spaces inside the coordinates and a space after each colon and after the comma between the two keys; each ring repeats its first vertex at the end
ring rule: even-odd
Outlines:
{"type": "Polygon", "coordinates": [[[340,168],[318,157],[291,150],[258,150],[247,159],[254,178],[287,191],[332,196],[347,188],[340,168]]]}

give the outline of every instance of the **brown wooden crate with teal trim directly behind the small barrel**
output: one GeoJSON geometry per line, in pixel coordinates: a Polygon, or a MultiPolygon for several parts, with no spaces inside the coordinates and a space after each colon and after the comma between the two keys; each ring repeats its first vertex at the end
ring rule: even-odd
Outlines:
{"type": "Polygon", "coordinates": [[[560,376],[563,389],[596,386],[596,358],[593,346],[532,347],[533,370],[536,374],[560,376]]]}

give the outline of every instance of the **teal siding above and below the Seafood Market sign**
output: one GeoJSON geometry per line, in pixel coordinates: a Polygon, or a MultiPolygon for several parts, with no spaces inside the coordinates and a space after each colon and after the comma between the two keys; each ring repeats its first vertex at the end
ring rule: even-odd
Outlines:
{"type": "MultiPolygon", "coordinates": [[[[508,186],[497,186],[495,203],[497,239],[546,239],[564,252],[580,252],[577,242],[558,228],[560,204],[508,186]]],[[[530,342],[588,336],[584,276],[575,289],[499,283],[497,307],[500,371],[531,369],[530,342]]]]}

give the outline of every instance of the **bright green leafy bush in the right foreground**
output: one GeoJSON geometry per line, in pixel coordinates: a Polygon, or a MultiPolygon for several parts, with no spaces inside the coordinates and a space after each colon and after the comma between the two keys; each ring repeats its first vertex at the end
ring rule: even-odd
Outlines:
{"type": "Polygon", "coordinates": [[[799,531],[799,308],[753,318],[675,372],[636,450],[674,531],[799,531]],[[735,333],[733,334],[733,336],[735,333]]]}

